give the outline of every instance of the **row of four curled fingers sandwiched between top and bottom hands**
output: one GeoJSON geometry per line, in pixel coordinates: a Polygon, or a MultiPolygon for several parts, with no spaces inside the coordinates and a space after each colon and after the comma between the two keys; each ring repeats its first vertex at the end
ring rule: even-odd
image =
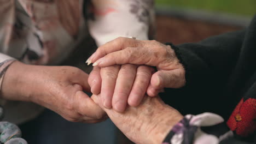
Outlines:
{"type": "Polygon", "coordinates": [[[93,94],[101,93],[104,107],[123,112],[127,103],[138,106],[143,99],[154,68],[146,65],[113,65],[110,67],[94,67],[88,82],[93,94]]]}

